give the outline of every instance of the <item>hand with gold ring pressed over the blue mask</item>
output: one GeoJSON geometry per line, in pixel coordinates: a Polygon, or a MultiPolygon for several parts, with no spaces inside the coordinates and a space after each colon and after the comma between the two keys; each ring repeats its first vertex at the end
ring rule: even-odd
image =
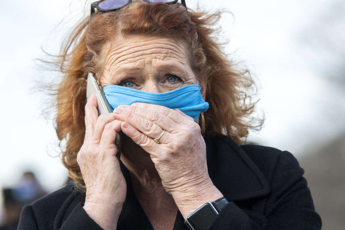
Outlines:
{"type": "MultiPolygon", "coordinates": [[[[213,201],[222,197],[209,178],[206,144],[193,118],[178,109],[147,103],[119,106],[114,113],[116,119],[124,121],[122,132],[150,154],[164,189],[173,196],[178,207],[185,200],[200,201],[206,197],[210,199],[207,201],[213,201]],[[160,143],[156,143],[153,139],[163,130],[160,143]]],[[[199,206],[195,205],[194,208],[199,206]]],[[[188,212],[184,211],[186,216],[188,212]]]]}

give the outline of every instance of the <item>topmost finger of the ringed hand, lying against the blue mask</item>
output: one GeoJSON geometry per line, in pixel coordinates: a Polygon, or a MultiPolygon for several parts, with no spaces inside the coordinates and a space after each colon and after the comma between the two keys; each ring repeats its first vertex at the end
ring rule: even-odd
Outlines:
{"type": "Polygon", "coordinates": [[[181,115],[177,111],[175,111],[173,109],[169,109],[165,106],[159,106],[158,104],[135,102],[132,104],[132,106],[137,106],[137,107],[141,107],[141,108],[146,108],[146,109],[158,111],[158,112],[164,114],[165,116],[167,116],[168,118],[170,118],[171,120],[175,121],[178,124],[186,124],[186,123],[190,122],[189,118],[186,118],[185,116],[181,115]]]}

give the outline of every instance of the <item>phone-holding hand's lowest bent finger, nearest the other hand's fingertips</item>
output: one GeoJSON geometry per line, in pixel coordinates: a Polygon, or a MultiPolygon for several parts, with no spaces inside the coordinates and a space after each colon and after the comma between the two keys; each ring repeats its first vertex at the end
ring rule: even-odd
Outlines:
{"type": "Polygon", "coordinates": [[[121,123],[122,121],[120,120],[113,120],[105,125],[99,143],[99,145],[102,146],[103,149],[116,148],[116,144],[114,143],[114,141],[116,139],[117,133],[121,131],[121,123]]]}

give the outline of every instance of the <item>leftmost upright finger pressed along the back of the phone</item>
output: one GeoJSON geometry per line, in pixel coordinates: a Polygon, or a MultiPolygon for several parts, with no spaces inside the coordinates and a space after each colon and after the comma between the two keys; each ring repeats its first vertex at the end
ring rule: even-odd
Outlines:
{"type": "Polygon", "coordinates": [[[85,105],[85,140],[93,136],[97,118],[97,99],[96,96],[92,94],[85,105]]]}

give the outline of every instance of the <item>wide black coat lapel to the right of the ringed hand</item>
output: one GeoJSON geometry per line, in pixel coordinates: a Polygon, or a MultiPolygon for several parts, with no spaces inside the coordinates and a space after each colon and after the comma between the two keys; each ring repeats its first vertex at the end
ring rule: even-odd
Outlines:
{"type": "Polygon", "coordinates": [[[269,193],[264,174],[233,140],[217,134],[205,142],[208,173],[228,200],[258,198],[269,193]]]}

